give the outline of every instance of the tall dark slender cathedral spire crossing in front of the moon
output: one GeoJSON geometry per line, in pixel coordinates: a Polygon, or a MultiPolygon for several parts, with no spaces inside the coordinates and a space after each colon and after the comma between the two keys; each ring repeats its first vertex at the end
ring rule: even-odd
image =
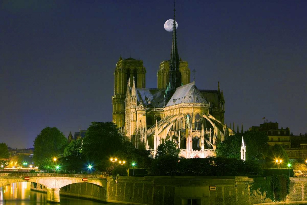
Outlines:
{"type": "Polygon", "coordinates": [[[177,36],[176,36],[176,9],[174,1],[174,21],[173,21],[173,42],[172,51],[169,60],[169,82],[170,90],[174,91],[177,87],[181,86],[181,73],[179,71],[179,55],[177,49],[177,36]]]}

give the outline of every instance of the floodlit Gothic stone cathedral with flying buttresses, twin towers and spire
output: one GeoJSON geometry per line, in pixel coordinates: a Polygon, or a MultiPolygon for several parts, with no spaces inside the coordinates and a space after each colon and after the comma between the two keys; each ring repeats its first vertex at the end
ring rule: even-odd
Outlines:
{"type": "Polygon", "coordinates": [[[224,124],[225,100],[217,90],[198,89],[190,82],[188,62],[179,58],[175,9],[171,55],[160,63],[157,88],[146,88],[142,60],[119,58],[112,96],[113,119],[126,140],[151,151],[167,140],[177,144],[180,156],[216,156],[216,145],[234,134],[224,124]]]}

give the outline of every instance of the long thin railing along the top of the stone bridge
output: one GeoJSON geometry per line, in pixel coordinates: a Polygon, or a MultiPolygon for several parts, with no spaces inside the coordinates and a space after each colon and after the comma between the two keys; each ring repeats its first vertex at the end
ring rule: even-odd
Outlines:
{"type": "Polygon", "coordinates": [[[54,173],[0,173],[0,177],[43,176],[43,177],[79,177],[79,178],[106,178],[107,172],[101,174],[54,174],[54,173]]]}

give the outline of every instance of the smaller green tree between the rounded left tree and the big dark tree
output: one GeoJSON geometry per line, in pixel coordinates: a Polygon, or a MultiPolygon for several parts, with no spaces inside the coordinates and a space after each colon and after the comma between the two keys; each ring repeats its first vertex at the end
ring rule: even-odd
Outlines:
{"type": "Polygon", "coordinates": [[[84,155],[82,154],[82,140],[73,140],[64,149],[62,162],[65,165],[64,169],[68,171],[83,171],[84,165],[84,155]]]}

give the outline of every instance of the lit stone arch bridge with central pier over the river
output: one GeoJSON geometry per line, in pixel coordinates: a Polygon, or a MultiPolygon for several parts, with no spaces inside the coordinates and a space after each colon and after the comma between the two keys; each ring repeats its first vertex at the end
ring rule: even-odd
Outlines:
{"type": "Polygon", "coordinates": [[[107,188],[107,175],[0,173],[0,187],[15,182],[34,182],[47,187],[47,202],[60,202],[60,188],[72,183],[92,183],[107,188]]]}

